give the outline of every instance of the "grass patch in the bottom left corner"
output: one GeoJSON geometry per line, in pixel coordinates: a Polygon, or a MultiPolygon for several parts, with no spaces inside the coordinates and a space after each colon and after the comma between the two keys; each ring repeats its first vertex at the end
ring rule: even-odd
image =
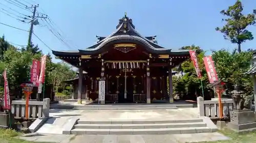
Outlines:
{"type": "MultiPolygon", "coordinates": [[[[1,143],[35,143],[33,141],[27,141],[27,140],[16,138],[19,135],[22,135],[22,133],[18,133],[12,129],[0,129],[0,142],[1,143]]],[[[37,142],[37,143],[40,143],[40,142],[37,142]]],[[[47,143],[47,142],[41,142],[41,143],[47,143]]]]}

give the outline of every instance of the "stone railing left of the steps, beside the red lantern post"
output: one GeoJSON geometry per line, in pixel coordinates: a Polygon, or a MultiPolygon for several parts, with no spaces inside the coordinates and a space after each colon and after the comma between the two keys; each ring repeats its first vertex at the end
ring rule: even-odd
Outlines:
{"type": "MultiPolygon", "coordinates": [[[[14,117],[25,118],[26,101],[13,100],[11,111],[14,117]]],[[[30,119],[49,117],[50,99],[45,98],[43,101],[29,101],[28,116],[30,119]]]]}

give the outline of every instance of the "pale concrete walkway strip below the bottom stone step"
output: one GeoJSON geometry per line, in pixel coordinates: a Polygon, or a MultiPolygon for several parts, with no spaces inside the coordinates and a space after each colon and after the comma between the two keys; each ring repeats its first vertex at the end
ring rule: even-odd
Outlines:
{"type": "Polygon", "coordinates": [[[27,134],[19,137],[29,141],[56,143],[185,143],[227,140],[228,137],[215,133],[166,134],[166,135],[63,135],[27,134]]]}

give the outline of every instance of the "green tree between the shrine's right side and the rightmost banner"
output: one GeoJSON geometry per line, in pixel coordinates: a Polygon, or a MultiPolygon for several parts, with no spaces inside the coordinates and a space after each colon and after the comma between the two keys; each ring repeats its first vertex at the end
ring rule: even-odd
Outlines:
{"type": "MultiPolygon", "coordinates": [[[[199,63],[199,68],[202,72],[202,82],[203,82],[203,90],[205,99],[210,98],[210,92],[211,88],[208,86],[208,78],[205,72],[204,64],[203,64],[203,57],[204,57],[204,51],[195,45],[191,46],[184,46],[180,49],[190,49],[190,50],[196,50],[197,52],[197,58],[199,63]]],[[[202,95],[202,86],[201,81],[197,77],[197,73],[195,70],[195,67],[193,65],[193,62],[190,60],[185,61],[181,64],[181,68],[176,69],[178,71],[182,71],[184,73],[181,77],[175,77],[173,78],[173,86],[174,86],[174,92],[182,99],[190,99],[190,100],[196,100],[197,95],[202,95]]]]}

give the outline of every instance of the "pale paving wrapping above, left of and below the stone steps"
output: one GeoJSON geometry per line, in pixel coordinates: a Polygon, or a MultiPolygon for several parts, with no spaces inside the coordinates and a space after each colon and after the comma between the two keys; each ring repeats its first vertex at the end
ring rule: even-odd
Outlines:
{"type": "Polygon", "coordinates": [[[198,119],[197,108],[177,108],[160,110],[67,110],[51,109],[50,119],[36,133],[20,137],[30,141],[47,141],[61,143],[108,143],[108,142],[199,142],[229,139],[218,132],[193,134],[162,134],[162,135],[65,135],[63,126],[76,117],[87,121],[120,121],[120,120],[188,120],[198,119]]]}

